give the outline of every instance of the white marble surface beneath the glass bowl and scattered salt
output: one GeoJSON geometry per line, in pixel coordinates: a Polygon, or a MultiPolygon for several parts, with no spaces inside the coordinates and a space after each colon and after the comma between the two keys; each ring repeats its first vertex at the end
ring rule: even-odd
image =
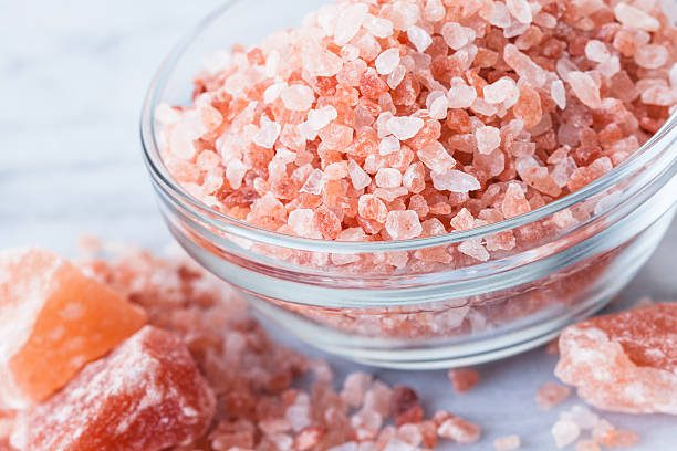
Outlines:
{"type": "MultiPolygon", "coordinates": [[[[137,119],[163,55],[219,3],[0,0],[0,248],[72,252],[81,232],[150,248],[169,241],[142,164],[137,119]]],[[[675,252],[677,227],[624,298],[677,298],[675,252]]],[[[533,395],[554,380],[553,366],[542,350],[485,365],[481,384],[464,396],[451,394],[441,371],[376,373],[417,388],[430,410],[481,423],[486,440],[465,449],[491,449],[493,438],[519,433],[524,449],[549,450],[558,413],[540,412],[533,395]]],[[[675,418],[607,418],[639,431],[639,450],[677,449],[675,418]]]]}

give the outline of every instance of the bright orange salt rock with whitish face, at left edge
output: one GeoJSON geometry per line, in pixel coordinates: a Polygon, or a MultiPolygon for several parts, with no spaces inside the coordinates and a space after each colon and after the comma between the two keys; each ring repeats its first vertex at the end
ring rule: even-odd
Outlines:
{"type": "Polygon", "coordinates": [[[46,399],[145,321],[143,310],[51,252],[1,252],[0,405],[46,399]]]}

